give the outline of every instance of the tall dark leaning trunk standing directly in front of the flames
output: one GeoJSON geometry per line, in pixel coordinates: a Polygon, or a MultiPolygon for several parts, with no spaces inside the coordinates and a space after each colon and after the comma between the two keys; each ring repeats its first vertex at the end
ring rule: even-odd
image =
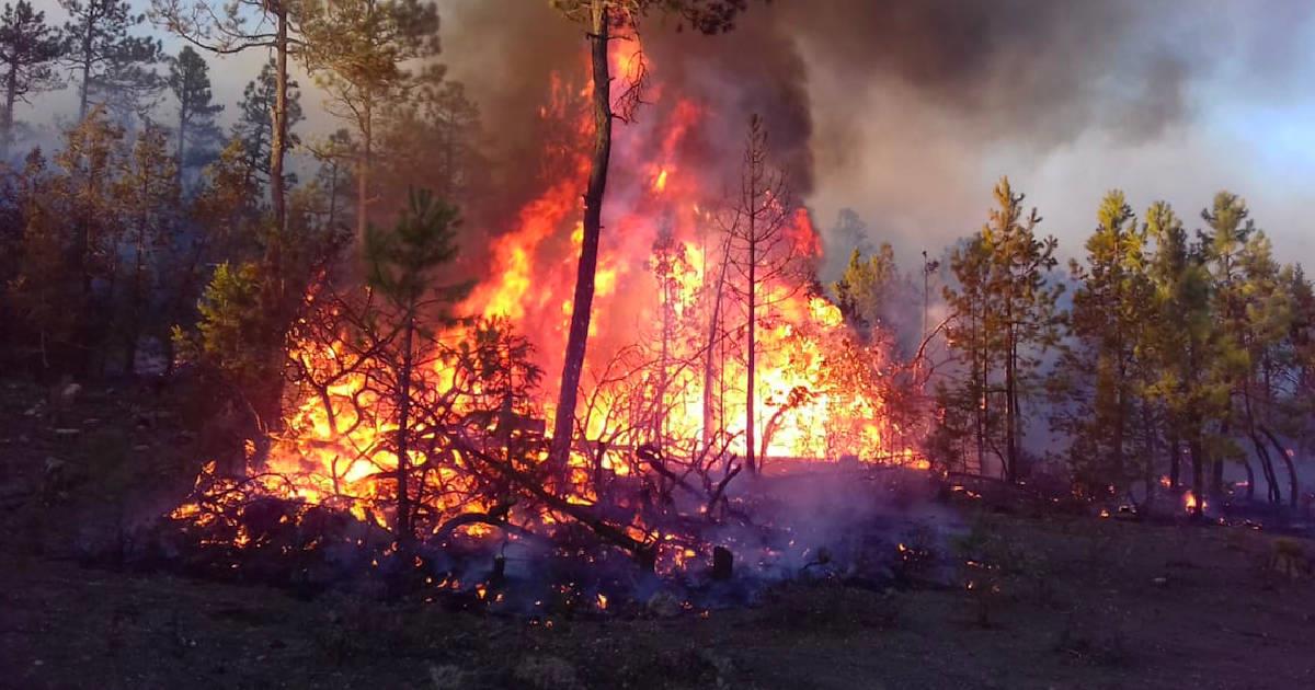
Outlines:
{"type": "Polygon", "coordinates": [[[608,166],[611,159],[611,74],[608,64],[608,14],[601,1],[590,3],[590,12],[593,159],[589,164],[589,187],[584,196],[584,237],[580,243],[580,265],[576,272],[565,361],[562,365],[562,390],[558,396],[556,419],[552,425],[550,463],[558,471],[567,465],[571,456],[571,439],[575,434],[575,409],[580,394],[580,376],[584,373],[585,347],[589,340],[593,279],[598,265],[598,238],[602,233],[602,200],[608,189],[608,166]]]}

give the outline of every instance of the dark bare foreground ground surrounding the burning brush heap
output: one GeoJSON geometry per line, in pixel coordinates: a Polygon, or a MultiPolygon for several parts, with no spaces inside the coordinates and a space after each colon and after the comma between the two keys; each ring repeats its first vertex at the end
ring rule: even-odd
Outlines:
{"type": "Polygon", "coordinates": [[[0,687],[1315,687],[1315,580],[1247,527],[953,503],[951,582],[794,582],[753,606],[540,618],[314,598],[84,561],[195,473],[166,398],[59,434],[0,385],[0,687]],[[978,565],[967,563],[967,553],[978,565]],[[969,589],[967,582],[972,581],[969,589]]]}

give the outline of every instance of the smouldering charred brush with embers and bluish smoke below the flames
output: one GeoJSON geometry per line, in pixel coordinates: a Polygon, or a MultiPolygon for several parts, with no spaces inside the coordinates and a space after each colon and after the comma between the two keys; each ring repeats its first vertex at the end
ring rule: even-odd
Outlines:
{"type": "Polygon", "coordinates": [[[786,582],[953,586],[951,543],[965,531],[938,499],[935,477],[848,464],[790,463],[744,480],[727,497],[736,518],[686,520],[661,534],[646,543],[651,566],[569,519],[544,536],[458,517],[442,535],[404,548],[385,526],[254,490],[252,481],[203,476],[206,498],[156,524],[132,559],[306,595],[404,595],[531,618],[665,618],[753,605],[786,582]]]}

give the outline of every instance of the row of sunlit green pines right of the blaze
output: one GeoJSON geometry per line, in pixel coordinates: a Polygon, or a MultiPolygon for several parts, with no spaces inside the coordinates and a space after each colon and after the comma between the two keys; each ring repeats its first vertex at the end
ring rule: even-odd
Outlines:
{"type": "MultiPolygon", "coordinates": [[[[1120,191],[1095,221],[1065,275],[1036,210],[1009,179],[995,185],[988,222],[943,262],[944,347],[922,363],[928,452],[945,471],[1009,481],[1060,467],[1086,495],[1136,488],[1139,502],[1161,488],[1222,495],[1235,465],[1245,497],[1295,507],[1315,431],[1315,289],[1302,267],[1274,258],[1230,192],[1194,233],[1165,201],[1139,218],[1120,191]],[[1051,451],[1030,453],[1028,432],[1051,451]]],[[[839,234],[853,241],[857,222],[842,216],[839,234]]],[[[882,246],[855,250],[831,293],[860,333],[881,334],[924,308],[917,283],[882,246]]]]}

